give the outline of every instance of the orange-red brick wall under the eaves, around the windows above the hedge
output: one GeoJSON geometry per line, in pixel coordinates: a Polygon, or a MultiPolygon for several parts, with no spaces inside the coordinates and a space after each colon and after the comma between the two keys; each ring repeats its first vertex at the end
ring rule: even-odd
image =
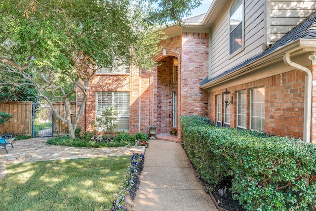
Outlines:
{"type": "MultiPolygon", "coordinates": [[[[233,96],[231,106],[231,127],[236,127],[237,91],[247,90],[247,129],[249,129],[250,89],[265,87],[265,132],[279,136],[303,139],[304,127],[304,81],[300,71],[290,71],[280,75],[228,87],[233,96]]],[[[215,95],[225,89],[209,93],[209,118],[216,121],[215,95]]]]}

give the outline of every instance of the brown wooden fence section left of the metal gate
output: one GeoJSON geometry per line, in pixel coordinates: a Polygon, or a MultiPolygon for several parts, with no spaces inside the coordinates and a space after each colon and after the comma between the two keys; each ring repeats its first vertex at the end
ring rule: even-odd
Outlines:
{"type": "Polygon", "coordinates": [[[0,125],[0,134],[32,134],[32,102],[6,101],[0,102],[0,112],[9,113],[13,118],[0,125]]]}

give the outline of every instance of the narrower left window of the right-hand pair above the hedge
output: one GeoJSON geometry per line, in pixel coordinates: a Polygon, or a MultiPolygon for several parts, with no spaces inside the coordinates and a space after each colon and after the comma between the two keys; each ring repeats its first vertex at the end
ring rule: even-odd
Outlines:
{"type": "Polygon", "coordinates": [[[247,127],[247,92],[237,91],[237,128],[247,127]]]}

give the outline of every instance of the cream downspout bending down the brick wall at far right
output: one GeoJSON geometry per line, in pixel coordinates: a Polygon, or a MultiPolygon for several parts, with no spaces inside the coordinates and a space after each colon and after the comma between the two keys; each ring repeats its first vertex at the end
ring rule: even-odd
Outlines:
{"type": "Polygon", "coordinates": [[[290,53],[283,54],[283,61],[297,70],[305,74],[305,90],[304,90],[304,129],[303,140],[304,142],[311,142],[311,112],[312,112],[312,72],[310,69],[292,62],[290,53]]]}

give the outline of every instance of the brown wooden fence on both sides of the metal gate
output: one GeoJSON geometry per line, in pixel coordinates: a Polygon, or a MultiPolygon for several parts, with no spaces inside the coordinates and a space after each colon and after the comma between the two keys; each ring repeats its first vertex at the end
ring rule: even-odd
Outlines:
{"type": "MultiPolygon", "coordinates": [[[[66,116],[64,103],[53,103],[57,112],[62,116],[66,116]]],[[[33,102],[29,101],[5,101],[0,102],[0,112],[9,113],[13,116],[10,120],[0,125],[0,134],[12,132],[15,135],[31,135],[32,134],[32,109],[33,102]]],[[[76,102],[70,102],[72,111],[72,120],[76,118],[76,102]]],[[[68,133],[68,126],[60,119],[53,115],[54,135],[63,135],[68,133]]]]}

